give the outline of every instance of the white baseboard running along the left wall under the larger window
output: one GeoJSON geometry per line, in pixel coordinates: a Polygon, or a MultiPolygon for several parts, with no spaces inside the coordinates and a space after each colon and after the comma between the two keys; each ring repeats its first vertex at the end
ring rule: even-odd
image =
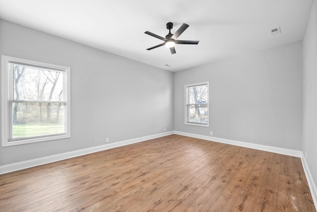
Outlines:
{"type": "Polygon", "coordinates": [[[103,150],[112,149],[115,147],[121,147],[121,146],[134,144],[134,143],[138,143],[138,142],[142,142],[142,141],[146,141],[146,140],[150,140],[150,139],[154,139],[154,138],[172,135],[172,134],[174,134],[174,132],[169,131],[169,132],[159,133],[159,134],[155,134],[155,135],[144,136],[144,137],[140,137],[140,138],[119,141],[119,142],[115,142],[115,143],[109,143],[109,144],[105,144],[105,145],[101,145],[101,146],[90,147],[90,148],[86,148],[86,149],[82,149],[82,150],[76,150],[76,151],[72,151],[72,152],[57,154],[57,155],[53,155],[53,156],[47,156],[47,157],[38,158],[38,159],[30,159],[30,160],[25,160],[25,161],[21,161],[21,162],[1,165],[0,166],[0,174],[12,172],[12,171],[17,171],[17,170],[21,170],[21,169],[25,169],[25,168],[30,168],[30,167],[34,167],[34,166],[38,166],[38,165],[43,165],[43,164],[47,164],[50,162],[55,162],[55,161],[59,161],[59,160],[63,160],[63,159],[69,159],[69,158],[74,158],[74,157],[78,157],[78,156],[82,156],[82,155],[87,155],[87,154],[91,154],[91,153],[95,153],[95,152],[99,152],[99,151],[103,151],[103,150]]]}

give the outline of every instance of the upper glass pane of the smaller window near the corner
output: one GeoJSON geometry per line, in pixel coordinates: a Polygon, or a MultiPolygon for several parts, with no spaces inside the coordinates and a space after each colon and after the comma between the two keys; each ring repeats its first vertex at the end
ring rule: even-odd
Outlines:
{"type": "Polygon", "coordinates": [[[193,86],[188,88],[188,104],[207,104],[208,85],[193,86]]]}

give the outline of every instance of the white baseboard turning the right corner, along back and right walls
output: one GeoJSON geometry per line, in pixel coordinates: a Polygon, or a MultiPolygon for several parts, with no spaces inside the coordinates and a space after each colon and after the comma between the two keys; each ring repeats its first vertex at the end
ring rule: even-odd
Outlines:
{"type": "Polygon", "coordinates": [[[265,145],[261,145],[261,144],[253,144],[253,143],[247,143],[247,142],[242,142],[242,141],[234,141],[234,140],[229,140],[229,139],[223,139],[223,138],[217,138],[217,137],[211,137],[211,136],[205,136],[205,135],[198,135],[198,134],[186,133],[186,132],[180,132],[180,131],[174,131],[174,134],[301,158],[303,168],[305,171],[305,175],[307,178],[307,182],[308,182],[309,188],[311,190],[311,195],[312,195],[312,198],[313,198],[313,201],[315,204],[315,208],[317,211],[317,187],[316,187],[314,178],[309,170],[307,161],[304,158],[304,154],[302,151],[283,149],[283,148],[279,148],[279,147],[265,146],[265,145]]]}

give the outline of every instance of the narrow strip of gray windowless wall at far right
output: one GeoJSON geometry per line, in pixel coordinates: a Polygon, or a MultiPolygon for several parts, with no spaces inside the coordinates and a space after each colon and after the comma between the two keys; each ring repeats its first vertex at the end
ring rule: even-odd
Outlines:
{"type": "MultiPolygon", "coordinates": [[[[317,182],[317,0],[303,40],[303,153],[317,182]]],[[[315,203],[316,204],[316,203],[315,203]]]]}

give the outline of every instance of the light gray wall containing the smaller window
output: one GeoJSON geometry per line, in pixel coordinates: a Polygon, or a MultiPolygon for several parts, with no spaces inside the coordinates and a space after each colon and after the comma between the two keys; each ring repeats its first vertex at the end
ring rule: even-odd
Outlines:
{"type": "Polygon", "coordinates": [[[302,42],[174,74],[174,130],[302,150],[302,42]],[[210,127],[184,124],[184,85],[210,82],[210,127]]]}

